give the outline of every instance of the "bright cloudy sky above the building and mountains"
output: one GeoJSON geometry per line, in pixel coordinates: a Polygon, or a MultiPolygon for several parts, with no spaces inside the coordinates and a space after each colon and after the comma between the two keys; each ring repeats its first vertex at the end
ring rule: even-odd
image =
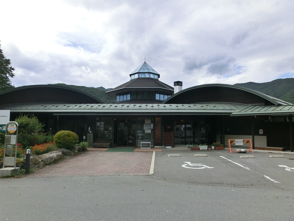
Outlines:
{"type": "Polygon", "coordinates": [[[160,81],[294,78],[292,0],[1,1],[0,44],[16,87],[116,87],[148,63],[160,81]]]}

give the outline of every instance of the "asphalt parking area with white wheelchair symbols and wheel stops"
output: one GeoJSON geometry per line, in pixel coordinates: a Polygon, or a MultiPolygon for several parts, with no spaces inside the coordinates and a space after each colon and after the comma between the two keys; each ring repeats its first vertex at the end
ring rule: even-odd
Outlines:
{"type": "Polygon", "coordinates": [[[294,169],[291,169],[294,168],[294,155],[282,154],[284,158],[271,158],[270,155],[281,154],[230,154],[227,150],[156,152],[154,176],[197,185],[294,190],[294,169]],[[196,157],[194,154],[207,156],[196,157]],[[246,155],[254,158],[240,158],[246,155]]]}

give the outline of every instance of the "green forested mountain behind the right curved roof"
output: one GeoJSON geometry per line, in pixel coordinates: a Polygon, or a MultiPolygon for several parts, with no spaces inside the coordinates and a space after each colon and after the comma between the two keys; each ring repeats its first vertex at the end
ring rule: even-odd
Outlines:
{"type": "Polygon", "coordinates": [[[294,78],[277,79],[265,83],[247,82],[234,85],[246,87],[294,104],[294,78]]]}

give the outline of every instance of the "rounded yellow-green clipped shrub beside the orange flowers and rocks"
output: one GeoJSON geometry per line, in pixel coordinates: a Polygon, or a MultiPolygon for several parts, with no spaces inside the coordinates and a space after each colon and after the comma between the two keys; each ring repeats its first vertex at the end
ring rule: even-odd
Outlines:
{"type": "Polygon", "coordinates": [[[53,137],[53,142],[56,143],[58,148],[65,148],[69,150],[73,149],[78,141],[78,135],[69,130],[61,130],[53,137]]]}

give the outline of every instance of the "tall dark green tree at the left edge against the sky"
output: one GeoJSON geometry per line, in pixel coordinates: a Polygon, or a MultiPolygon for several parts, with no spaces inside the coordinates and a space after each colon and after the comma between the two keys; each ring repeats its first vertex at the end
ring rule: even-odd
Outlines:
{"type": "Polygon", "coordinates": [[[9,79],[14,77],[14,70],[15,68],[11,66],[10,59],[4,56],[0,44],[0,91],[14,87],[9,79]]]}

